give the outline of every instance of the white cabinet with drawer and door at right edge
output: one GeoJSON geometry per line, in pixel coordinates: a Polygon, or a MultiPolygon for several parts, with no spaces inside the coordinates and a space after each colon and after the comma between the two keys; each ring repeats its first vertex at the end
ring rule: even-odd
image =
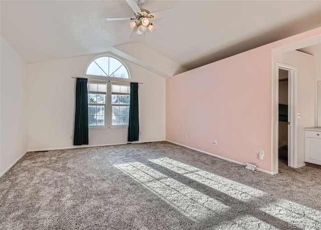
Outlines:
{"type": "Polygon", "coordinates": [[[304,129],[305,162],[321,165],[321,128],[304,129]]]}

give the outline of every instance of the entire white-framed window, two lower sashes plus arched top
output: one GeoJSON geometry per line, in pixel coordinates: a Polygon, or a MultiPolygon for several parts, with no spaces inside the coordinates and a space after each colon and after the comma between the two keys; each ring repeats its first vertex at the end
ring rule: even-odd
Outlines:
{"type": "Polygon", "coordinates": [[[110,82],[112,78],[130,78],[126,65],[116,57],[102,55],[89,62],[86,74],[106,77],[106,82],[88,79],[89,127],[127,127],[130,85],[110,82]]]}

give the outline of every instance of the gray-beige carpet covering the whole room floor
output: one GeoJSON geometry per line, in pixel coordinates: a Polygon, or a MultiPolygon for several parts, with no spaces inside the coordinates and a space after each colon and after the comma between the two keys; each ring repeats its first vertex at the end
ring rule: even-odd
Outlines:
{"type": "Polygon", "coordinates": [[[321,229],[321,167],[255,173],[168,142],[27,153],[0,229],[321,229]]]}

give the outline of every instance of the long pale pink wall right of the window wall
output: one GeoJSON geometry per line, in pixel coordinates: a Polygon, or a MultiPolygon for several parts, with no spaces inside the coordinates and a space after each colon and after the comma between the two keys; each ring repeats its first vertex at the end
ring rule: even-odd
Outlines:
{"type": "Polygon", "coordinates": [[[271,172],[272,48],[320,29],[168,78],[166,139],[241,163],[258,163],[264,150],[260,168],[271,172]]]}

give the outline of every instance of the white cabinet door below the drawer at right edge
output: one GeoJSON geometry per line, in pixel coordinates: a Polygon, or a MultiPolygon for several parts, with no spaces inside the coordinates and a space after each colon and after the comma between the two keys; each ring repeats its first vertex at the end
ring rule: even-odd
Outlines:
{"type": "Polygon", "coordinates": [[[321,139],[305,138],[305,162],[321,165],[321,139]]]}

